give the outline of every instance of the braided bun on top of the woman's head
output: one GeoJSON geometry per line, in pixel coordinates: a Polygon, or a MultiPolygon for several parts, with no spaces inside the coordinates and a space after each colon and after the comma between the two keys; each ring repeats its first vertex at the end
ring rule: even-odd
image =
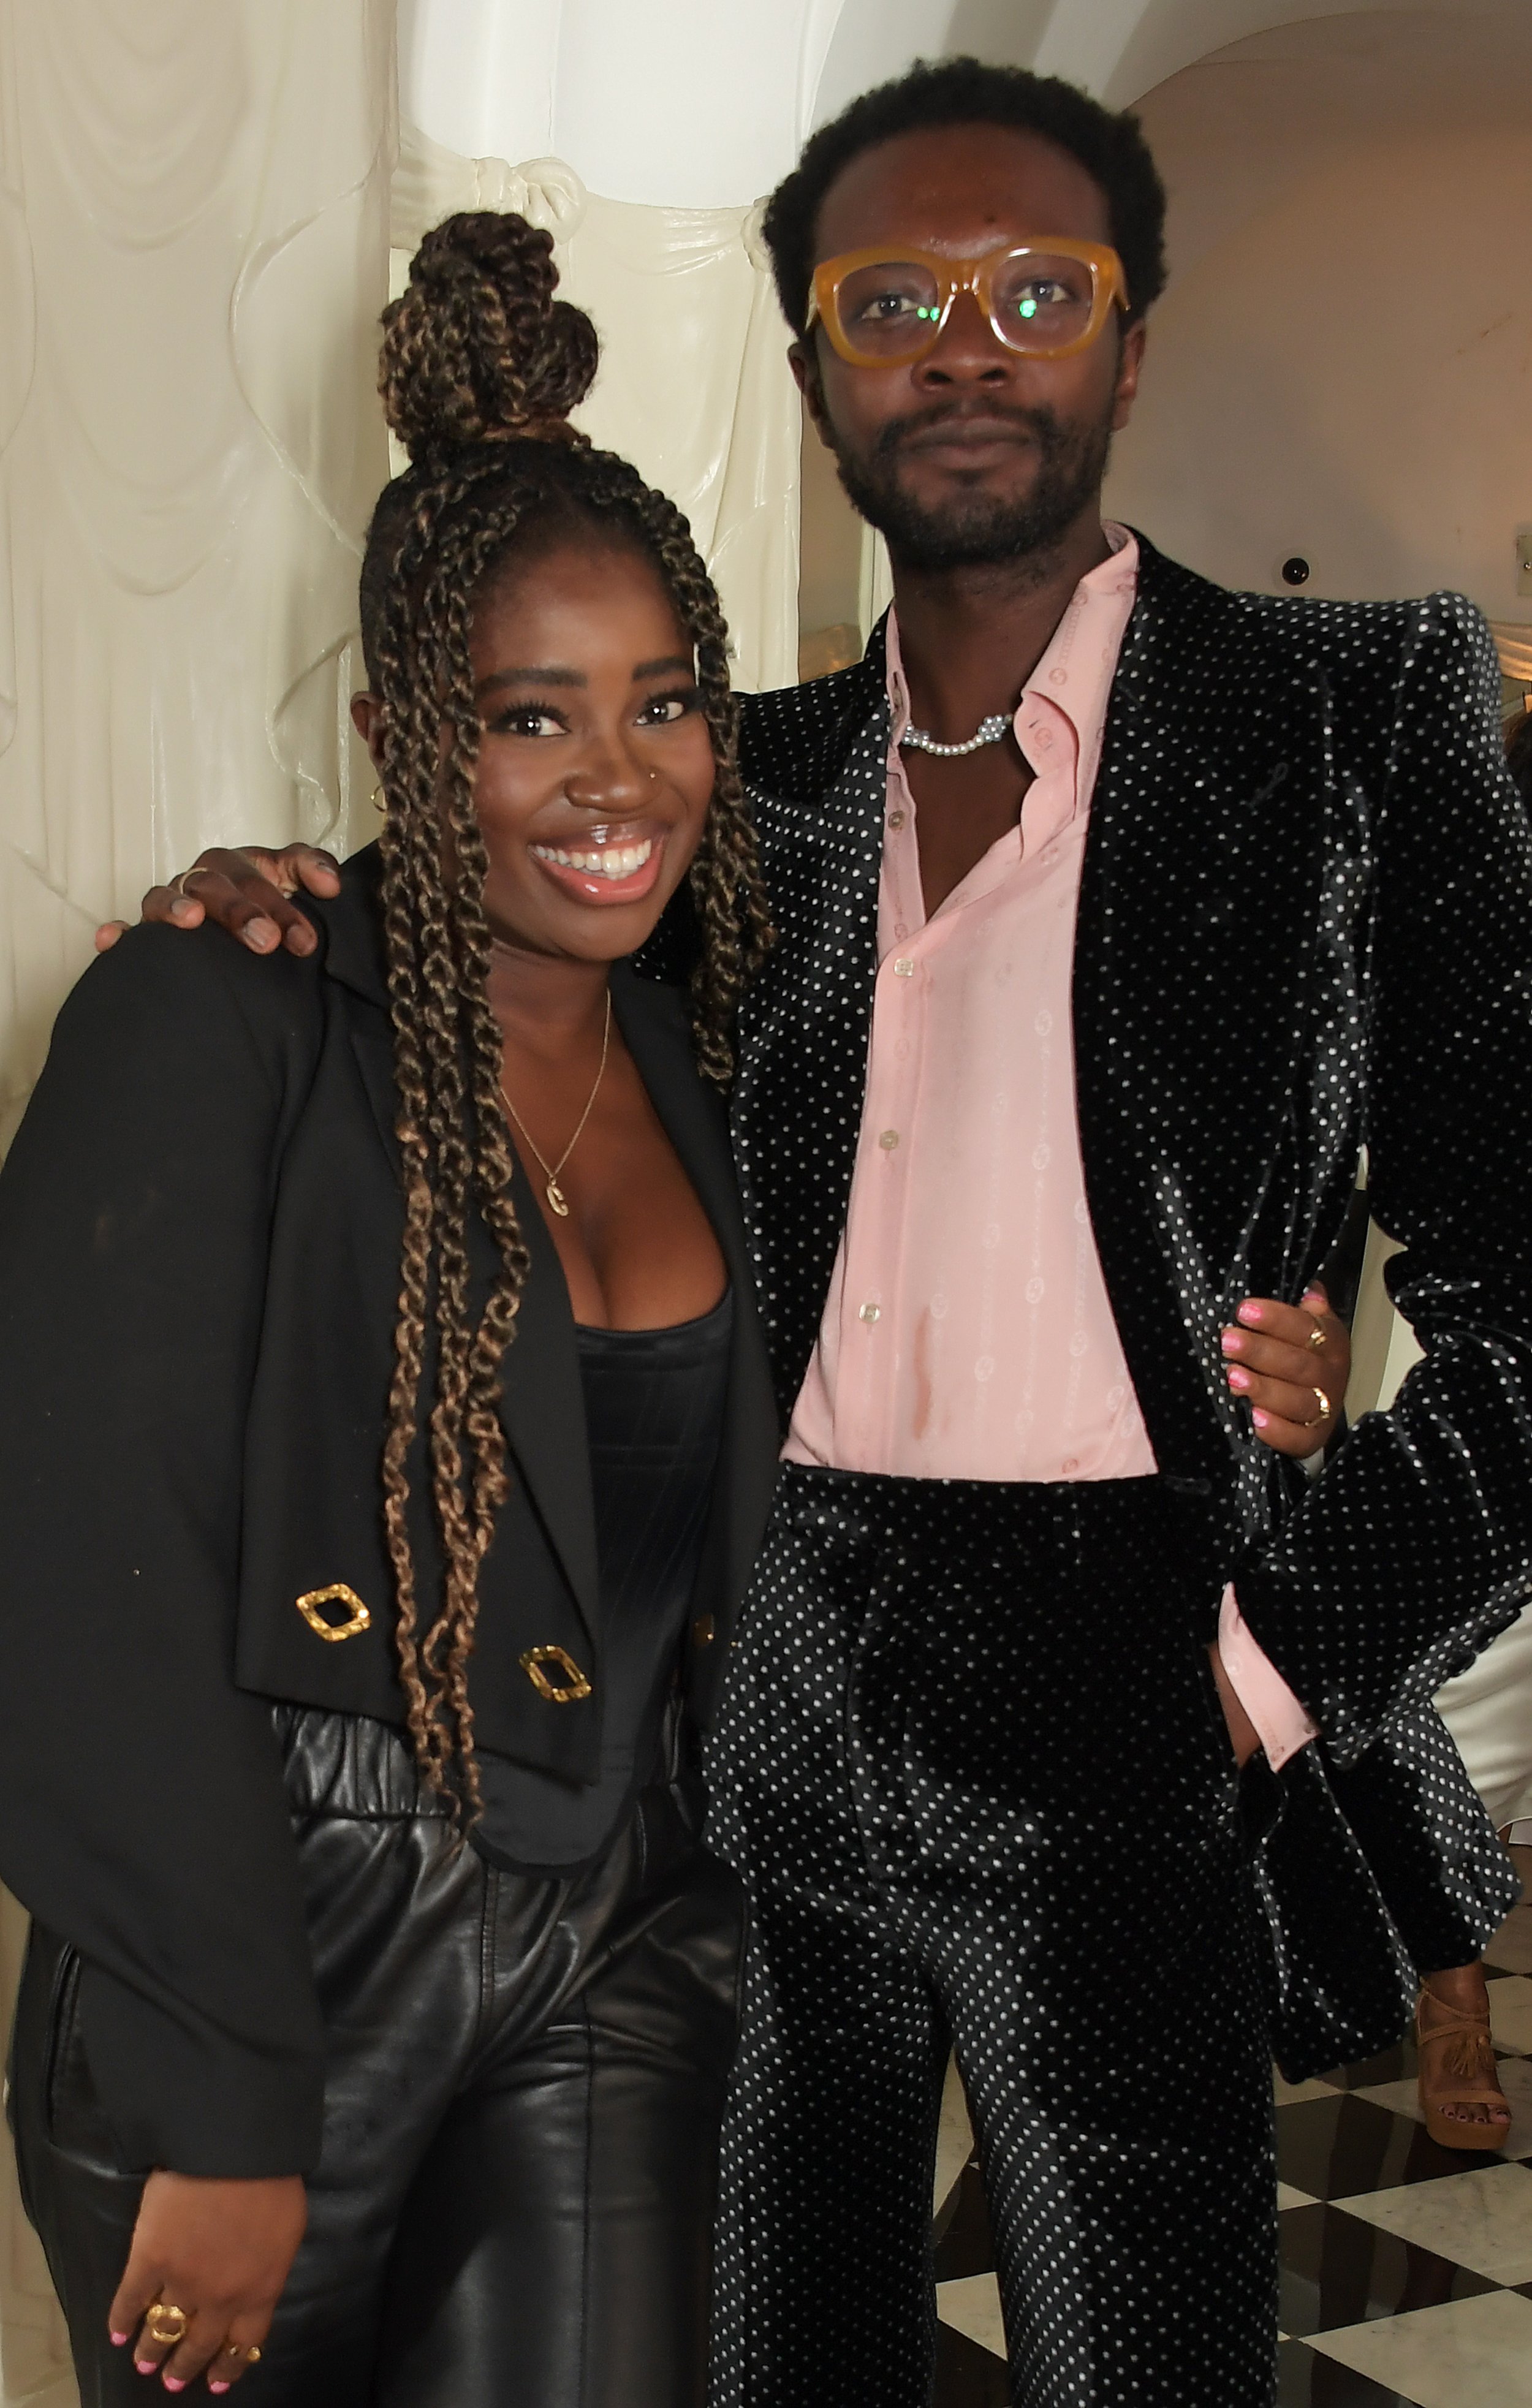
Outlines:
{"type": "Polygon", "coordinates": [[[426,234],[383,311],[378,359],[383,412],[412,460],[564,426],[600,344],[556,284],[552,234],[511,209],[465,209],[426,234]]]}

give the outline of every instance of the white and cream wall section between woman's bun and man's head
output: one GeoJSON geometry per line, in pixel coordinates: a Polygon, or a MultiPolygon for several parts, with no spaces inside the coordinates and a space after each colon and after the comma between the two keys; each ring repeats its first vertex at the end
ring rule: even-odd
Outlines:
{"type": "Polygon", "coordinates": [[[684,508],[742,686],[797,677],[800,405],[754,202],[809,128],[841,0],[405,0],[395,243],[520,207],[597,323],[581,412],[684,508]],[[419,128],[419,140],[409,132],[419,128]]]}

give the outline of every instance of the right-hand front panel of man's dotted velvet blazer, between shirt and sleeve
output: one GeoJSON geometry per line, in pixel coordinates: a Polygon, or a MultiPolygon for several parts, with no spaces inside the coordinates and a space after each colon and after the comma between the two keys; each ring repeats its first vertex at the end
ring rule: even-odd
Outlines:
{"type": "Polygon", "coordinates": [[[1091,799],[1074,1079],[1144,1421],[1161,1471],[1204,1486],[1241,1440],[1219,1334],[1262,1216],[1291,1209],[1272,1168],[1310,1019],[1327,698],[1269,619],[1142,554],[1091,799]],[[1257,701],[1231,715],[1231,691],[1257,701]]]}

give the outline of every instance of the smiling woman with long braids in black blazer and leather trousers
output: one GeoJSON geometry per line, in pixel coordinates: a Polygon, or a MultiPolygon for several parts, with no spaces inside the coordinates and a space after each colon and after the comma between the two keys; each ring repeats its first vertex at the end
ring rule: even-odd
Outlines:
{"type": "Polygon", "coordinates": [[[92,2408],[701,2401],[768,927],[718,602],[568,426],[549,248],[450,219],[385,315],[378,843],[308,958],[104,956],[0,1180],[12,2114],[92,2408]]]}

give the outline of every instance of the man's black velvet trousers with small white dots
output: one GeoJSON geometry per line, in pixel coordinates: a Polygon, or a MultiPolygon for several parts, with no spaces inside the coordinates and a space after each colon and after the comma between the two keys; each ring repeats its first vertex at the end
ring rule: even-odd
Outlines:
{"type": "Polygon", "coordinates": [[[754,1941],[713,2408],[925,2408],[949,2044],[1021,2408],[1265,2408],[1272,2083],[1159,1481],[788,1466],[711,1758],[754,1941]]]}

